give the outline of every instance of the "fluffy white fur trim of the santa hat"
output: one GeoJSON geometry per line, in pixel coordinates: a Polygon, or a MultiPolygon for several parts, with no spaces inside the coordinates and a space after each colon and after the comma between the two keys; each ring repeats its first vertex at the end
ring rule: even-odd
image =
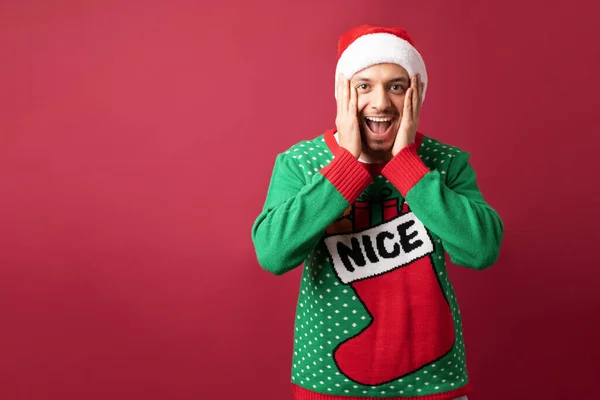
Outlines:
{"type": "Polygon", "coordinates": [[[428,79],[423,57],[409,42],[391,33],[370,33],[352,42],[338,60],[336,80],[339,72],[350,79],[355,73],[382,63],[402,66],[411,78],[421,74],[424,83],[422,99],[425,100],[428,79]]]}

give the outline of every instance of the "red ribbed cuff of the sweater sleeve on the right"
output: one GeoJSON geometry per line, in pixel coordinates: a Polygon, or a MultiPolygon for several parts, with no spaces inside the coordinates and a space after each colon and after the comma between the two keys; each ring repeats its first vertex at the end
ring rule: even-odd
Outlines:
{"type": "Polygon", "coordinates": [[[381,171],[382,175],[388,178],[404,198],[408,191],[428,172],[429,168],[417,154],[415,143],[400,150],[381,171]]]}

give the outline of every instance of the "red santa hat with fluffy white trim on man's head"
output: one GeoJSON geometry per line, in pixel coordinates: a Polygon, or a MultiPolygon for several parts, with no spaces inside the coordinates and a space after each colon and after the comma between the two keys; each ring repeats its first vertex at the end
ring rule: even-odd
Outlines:
{"type": "Polygon", "coordinates": [[[350,79],[355,73],[382,63],[402,66],[411,78],[421,74],[421,81],[424,83],[422,98],[425,99],[427,90],[425,63],[405,30],[361,25],[340,37],[336,79],[340,72],[350,79]]]}

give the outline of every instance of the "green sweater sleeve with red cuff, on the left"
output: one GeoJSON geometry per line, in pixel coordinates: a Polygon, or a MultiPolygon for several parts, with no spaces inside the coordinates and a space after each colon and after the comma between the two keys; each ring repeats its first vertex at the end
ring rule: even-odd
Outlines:
{"type": "Polygon", "coordinates": [[[263,210],[252,226],[261,267],[281,275],[300,265],[371,182],[371,175],[344,148],[312,176],[289,155],[278,155],[263,210]]]}

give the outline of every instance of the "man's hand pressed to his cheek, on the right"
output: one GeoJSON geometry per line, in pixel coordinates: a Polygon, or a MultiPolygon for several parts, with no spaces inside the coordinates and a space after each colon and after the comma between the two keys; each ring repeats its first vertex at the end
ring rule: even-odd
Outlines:
{"type": "Polygon", "coordinates": [[[404,110],[402,112],[402,121],[400,129],[396,134],[396,140],[392,147],[392,156],[395,156],[404,147],[415,142],[417,127],[419,126],[419,113],[423,103],[423,82],[419,74],[410,79],[410,87],[404,96],[404,110]]]}

